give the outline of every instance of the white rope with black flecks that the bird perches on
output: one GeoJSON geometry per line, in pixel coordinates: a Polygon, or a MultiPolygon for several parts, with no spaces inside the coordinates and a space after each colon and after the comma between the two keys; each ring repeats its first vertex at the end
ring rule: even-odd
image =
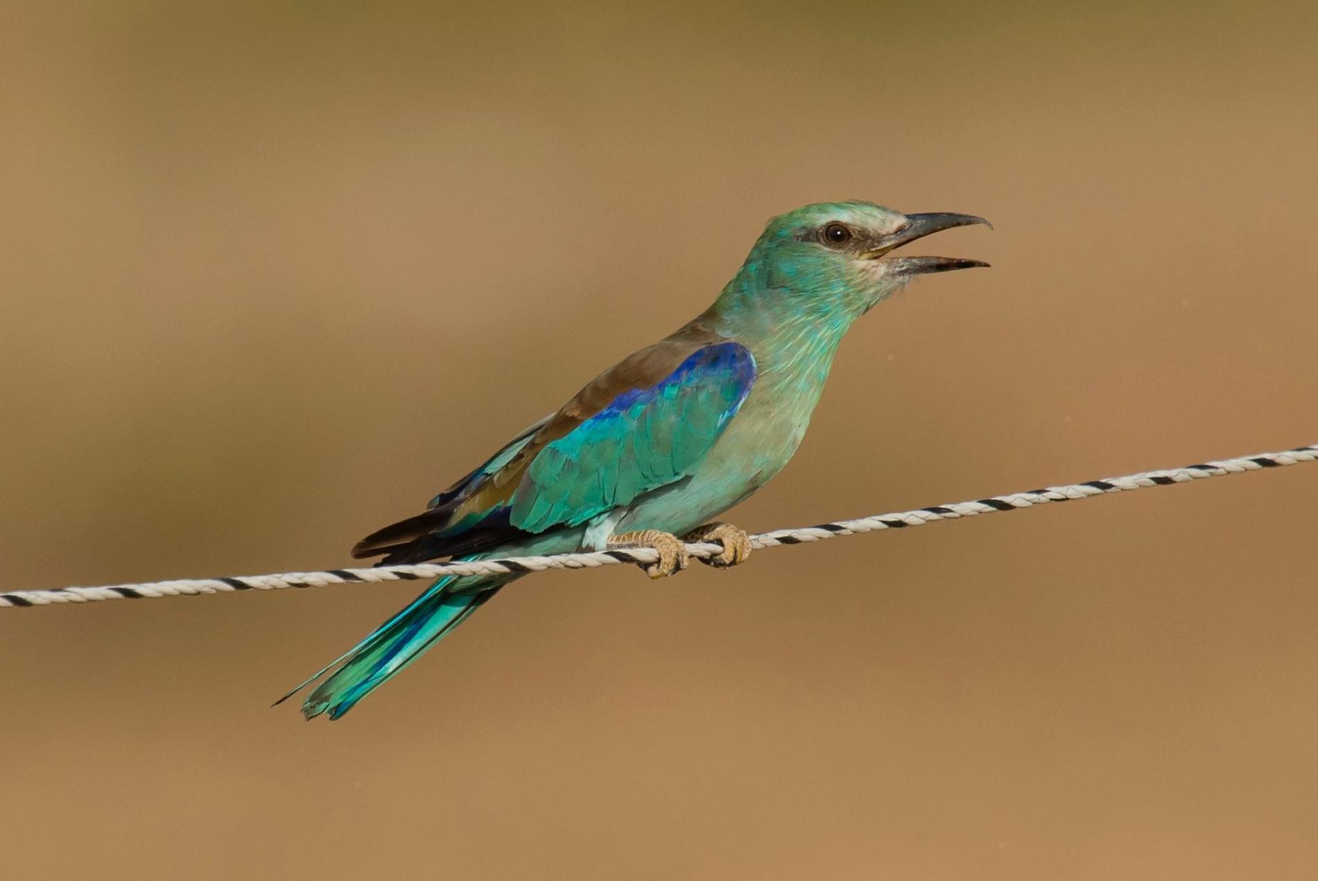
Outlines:
{"type": "MultiPolygon", "coordinates": [[[[937,523],[938,520],[960,520],[995,511],[1015,511],[1045,502],[1072,502],[1095,495],[1143,490],[1149,486],[1170,486],[1189,483],[1206,477],[1224,477],[1260,471],[1284,465],[1298,465],[1318,460],[1318,444],[1297,446],[1281,453],[1257,453],[1220,462],[1202,462],[1160,471],[1144,471],[1124,477],[1110,477],[1102,481],[1086,481],[1068,486],[1050,486],[1028,493],[995,495],[974,502],[936,504],[913,511],[876,514],[859,520],[836,520],[817,527],[801,529],[775,529],[751,536],[753,548],[776,548],[779,545],[805,544],[834,539],[838,536],[861,535],[878,529],[902,529],[905,527],[937,523]]],[[[692,557],[712,557],[722,550],[718,544],[688,544],[692,557]]],[[[57,603],[90,603],[103,599],[149,599],[156,597],[191,597],[195,594],[224,594],[240,590],[282,590],[285,587],[320,587],[322,585],[357,585],[381,581],[416,581],[440,575],[493,575],[525,574],[548,569],[593,569],[618,564],[656,562],[658,552],[650,548],[634,550],[616,549],[593,553],[564,553],[550,557],[507,557],[503,560],[473,560],[465,562],[435,562],[410,566],[374,566],[370,569],[327,569],[323,572],[286,572],[274,575],[239,575],[229,578],[183,578],[178,581],[157,581],[140,585],[115,585],[107,587],[57,587],[54,590],[16,590],[0,593],[0,608],[25,608],[32,606],[51,606],[57,603]]]]}

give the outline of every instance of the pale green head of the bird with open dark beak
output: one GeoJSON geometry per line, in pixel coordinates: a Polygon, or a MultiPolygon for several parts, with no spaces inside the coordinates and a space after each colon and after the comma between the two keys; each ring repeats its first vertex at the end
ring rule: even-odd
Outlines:
{"type": "MultiPolygon", "coordinates": [[[[793,313],[844,328],[917,275],[987,266],[896,249],[953,227],[988,225],[971,215],[903,215],[873,201],[832,201],[768,221],[725,298],[741,308],[793,313]]],[[[729,303],[730,304],[730,303],[729,303]]]]}

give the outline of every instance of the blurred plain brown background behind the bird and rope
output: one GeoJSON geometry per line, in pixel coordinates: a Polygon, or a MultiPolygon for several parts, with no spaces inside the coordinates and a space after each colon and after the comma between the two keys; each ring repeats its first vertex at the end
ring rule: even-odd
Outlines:
{"type": "MultiPolygon", "coordinates": [[[[847,340],[808,524],[1318,439],[1307,3],[5,4],[7,589],[336,566],[763,221],[982,213],[847,340]]],[[[523,581],[0,612],[13,878],[1300,878],[1318,467],[523,581]]]]}

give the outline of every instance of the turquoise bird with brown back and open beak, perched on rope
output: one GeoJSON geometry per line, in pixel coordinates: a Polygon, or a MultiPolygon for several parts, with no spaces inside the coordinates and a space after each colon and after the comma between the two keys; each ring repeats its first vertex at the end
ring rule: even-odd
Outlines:
{"type": "MultiPolygon", "coordinates": [[[[987,266],[892,255],[953,227],[956,213],[903,215],[869,201],[805,205],[768,223],[718,299],[671,336],[623,358],[431,499],[424,514],[353,548],[382,565],[608,548],[654,548],[651,578],[708,560],[746,560],[745,532],[712,518],[746,499],[796,452],[842,336],[928,273],[987,266]]],[[[401,673],[518,575],[445,577],[345,654],[306,699],[337,719],[401,673]],[[331,673],[332,670],[332,673],[331,673]]]]}

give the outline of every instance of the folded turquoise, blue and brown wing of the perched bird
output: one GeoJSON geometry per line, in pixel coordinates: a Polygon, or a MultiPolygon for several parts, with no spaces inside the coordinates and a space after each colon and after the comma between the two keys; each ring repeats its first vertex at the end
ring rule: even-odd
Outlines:
{"type": "Polygon", "coordinates": [[[597,377],[567,406],[353,556],[414,562],[576,527],[689,477],[755,381],[738,342],[675,334],[597,377]]]}

